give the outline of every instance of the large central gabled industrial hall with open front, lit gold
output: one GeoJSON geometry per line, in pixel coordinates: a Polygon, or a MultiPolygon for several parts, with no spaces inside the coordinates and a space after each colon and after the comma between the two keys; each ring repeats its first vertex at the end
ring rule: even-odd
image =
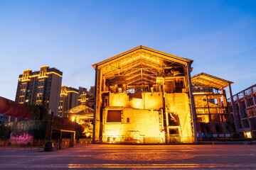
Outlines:
{"type": "Polygon", "coordinates": [[[92,65],[95,142],[193,143],[191,64],[139,46],[92,65]]]}

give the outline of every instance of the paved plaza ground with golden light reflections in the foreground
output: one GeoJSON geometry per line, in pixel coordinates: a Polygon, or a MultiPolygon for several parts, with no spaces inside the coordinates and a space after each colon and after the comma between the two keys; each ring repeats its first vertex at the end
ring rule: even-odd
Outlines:
{"type": "Polygon", "coordinates": [[[256,169],[256,145],[87,145],[0,149],[0,169],[256,169]]]}

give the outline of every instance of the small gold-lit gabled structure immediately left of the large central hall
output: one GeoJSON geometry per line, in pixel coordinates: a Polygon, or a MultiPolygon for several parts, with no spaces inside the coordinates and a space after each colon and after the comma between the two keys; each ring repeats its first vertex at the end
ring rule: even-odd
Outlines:
{"type": "Polygon", "coordinates": [[[75,123],[78,123],[85,127],[85,135],[87,137],[92,137],[93,128],[93,109],[85,106],[79,105],[75,108],[71,108],[65,111],[65,118],[70,118],[75,123]]]}

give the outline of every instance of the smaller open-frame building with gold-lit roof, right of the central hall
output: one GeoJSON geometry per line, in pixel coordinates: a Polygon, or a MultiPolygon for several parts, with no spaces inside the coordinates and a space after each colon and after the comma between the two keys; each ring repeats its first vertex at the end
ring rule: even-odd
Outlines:
{"type": "Polygon", "coordinates": [[[201,137],[230,137],[233,133],[228,111],[226,87],[231,91],[231,81],[201,73],[191,77],[195,101],[197,132],[201,137]]]}

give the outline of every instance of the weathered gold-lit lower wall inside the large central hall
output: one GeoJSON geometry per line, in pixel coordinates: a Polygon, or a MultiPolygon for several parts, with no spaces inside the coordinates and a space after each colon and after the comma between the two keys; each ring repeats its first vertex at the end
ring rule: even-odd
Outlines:
{"type": "MultiPolygon", "coordinates": [[[[168,114],[174,116],[178,121],[177,125],[167,125],[166,137],[173,137],[170,135],[169,129],[176,127],[180,132],[178,133],[178,142],[193,143],[193,127],[191,108],[188,94],[176,93],[176,94],[164,94],[160,92],[156,93],[142,93],[142,98],[130,98],[128,94],[110,93],[110,108],[111,107],[124,107],[122,109],[122,123],[107,123],[103,120],[103,136],[105,142],[107,136],[118,134],[120,136],[129,136],[127,131],[139,132],[144,137],[152,137],[154,140],[151,142],[159,142],[164,134],[164,130],[161,130],[163,121],[159,120],[159,113],[164,108],[164,100],[166,105],[166,120],[168,122],[168,114]],[[131,118],[129,118],[131,116],[131,118]],[[130,123],[126,124],[125,121],[129,118],[130,123]]],[[[107,111],[104,111],[103,118],[106,119],[107,111]]],[[[162,118],[163,120],[163,118],[162,118]]],[[[164,140],[165,141],[165,140],[164,140]]],[[[142,141],[141,141],[142,142],[142,141]]],[[[149,141],[148,141],[149,142],[149,141]]],[[[167,140],[166,142],[170,142],[167,140]]]]}

